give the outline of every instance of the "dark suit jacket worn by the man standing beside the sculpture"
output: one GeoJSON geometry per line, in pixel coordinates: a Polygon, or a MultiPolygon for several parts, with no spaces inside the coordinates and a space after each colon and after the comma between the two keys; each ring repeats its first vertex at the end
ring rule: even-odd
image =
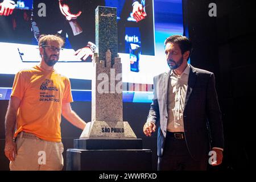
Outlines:
{"type": "MultiPolygon", "coordinates": [[[[159,122],[158,156],[164,155],[170,72],[154,77],[154,98],[147,118],[147,122],[159,122]]],[[[211,147],[224,148],[221,111],[213,73],[190,65],[183,121],[185,141],[193,159],[205,160],[211,147]]]]}

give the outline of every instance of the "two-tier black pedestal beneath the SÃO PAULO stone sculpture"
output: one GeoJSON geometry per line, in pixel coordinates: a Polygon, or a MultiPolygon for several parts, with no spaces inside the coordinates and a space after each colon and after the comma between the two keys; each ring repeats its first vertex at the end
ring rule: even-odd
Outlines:
{"type": "Polygon", "coordinates": [[[152,170],[152,151],[142,139],[75,139],[67,170],[152,170]]]}

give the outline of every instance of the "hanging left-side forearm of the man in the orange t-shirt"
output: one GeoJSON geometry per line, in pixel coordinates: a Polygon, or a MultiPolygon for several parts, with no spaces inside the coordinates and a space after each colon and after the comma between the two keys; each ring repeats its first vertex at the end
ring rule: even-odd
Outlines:
{"type": "Polygon", "coordinates": [[[7,109],[5,117],[5,139],[13,140],[16,125],[16,112],[10,108],[7,109]]]}

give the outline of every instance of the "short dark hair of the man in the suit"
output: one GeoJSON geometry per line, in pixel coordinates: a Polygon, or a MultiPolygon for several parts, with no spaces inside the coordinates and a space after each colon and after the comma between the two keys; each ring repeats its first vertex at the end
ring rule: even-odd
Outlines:
{"type": "Polygon", "coordinates": [[[186,36],[171,35],[166,40],[164,40],[164,46],[166,46],[167,43],[178,44],[182,54],[186,51],[189,51],[189,56],[188,56],[188,59],[189,59],[192,52],[192,43],[191,43],[191,40],[189,40],[186,36]]]}

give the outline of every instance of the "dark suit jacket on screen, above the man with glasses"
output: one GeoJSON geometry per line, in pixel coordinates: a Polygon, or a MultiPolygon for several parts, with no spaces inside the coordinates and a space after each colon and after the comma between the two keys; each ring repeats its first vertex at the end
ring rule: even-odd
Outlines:
{"type": "MultiPolygon", "coordinates": [[[[33,16],[32,22],[36,23],[39,28],[40,34],[57,34],[62,30],[60,36],[65,38],[68,34],[71,47],[75,51],[79,48],[85,47],[87,43],[95,42],[95,9],[97,6],[105,6],[104,0],[77,0],[73,1],[79,10],[82,11],[81,15],[76,19],[82,28],[82,33],[74,36],[72,28],[66,20],[65,16],[61,14],[59,1],[52,0],[33,0],[33,16]],[[39,3],[46,4],[46,16],[38,16],[39,3]]],[[[78,11],[77,11],[78,12],[78,11]]]]}

